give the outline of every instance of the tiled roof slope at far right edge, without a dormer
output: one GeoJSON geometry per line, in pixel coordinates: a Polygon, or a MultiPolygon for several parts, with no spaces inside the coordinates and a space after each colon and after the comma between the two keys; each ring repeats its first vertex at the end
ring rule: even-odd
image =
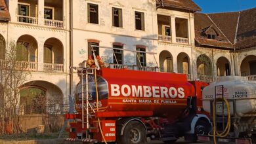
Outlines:
{"type": "Polygon", "coordinates": [[[237,49],[256,46],[256,8],[240,13],[236,37],[235,46],[237,49]]]}

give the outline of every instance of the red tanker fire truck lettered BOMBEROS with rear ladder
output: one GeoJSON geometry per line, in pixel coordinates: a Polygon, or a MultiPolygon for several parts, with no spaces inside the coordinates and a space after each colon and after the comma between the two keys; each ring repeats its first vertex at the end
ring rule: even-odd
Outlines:
{"type": "Polygon", "coordinates": [[[211,131],[202,109],[202,88],[186,75],[129,69],[74,67],[81,81],[74,92],[68,141],[120,144],[160,140],[173,143],[211,131]]]}

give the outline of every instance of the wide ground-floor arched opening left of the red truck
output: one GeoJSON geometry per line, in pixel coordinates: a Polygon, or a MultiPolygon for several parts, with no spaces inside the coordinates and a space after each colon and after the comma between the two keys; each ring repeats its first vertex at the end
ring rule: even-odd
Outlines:
{"type": "Polygon", "coordinates": [[[20,115],[61,114],[62,90],[46,81],[32,81],[20,86],[20,115]]]}

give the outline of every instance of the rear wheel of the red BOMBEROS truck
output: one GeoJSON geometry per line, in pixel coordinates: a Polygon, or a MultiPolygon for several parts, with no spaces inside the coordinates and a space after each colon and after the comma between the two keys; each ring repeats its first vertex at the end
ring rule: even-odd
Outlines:
{"type": "Polygon", "coordinates": [[[146,130],[138,121],[131,121],[125,126],[123,135],[117,137],[117,144],[146,143],[146,130]]]}

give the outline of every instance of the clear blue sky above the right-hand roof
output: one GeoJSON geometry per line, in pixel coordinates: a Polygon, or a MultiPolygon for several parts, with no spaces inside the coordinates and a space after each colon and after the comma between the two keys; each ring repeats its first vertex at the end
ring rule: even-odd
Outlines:
{"type": "Polygon", "coordinates": [[[234,12],[256,7],[256,0],[193,0],[203,13],[234,12]]]}

